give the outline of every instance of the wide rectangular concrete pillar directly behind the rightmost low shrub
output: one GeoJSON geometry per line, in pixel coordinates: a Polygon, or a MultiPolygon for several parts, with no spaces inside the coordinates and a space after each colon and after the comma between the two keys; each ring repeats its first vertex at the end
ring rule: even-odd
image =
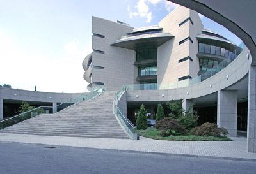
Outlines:
{"type": "Polygon", "coordinates": [[[228,130],[228,136],[237,134],[237,91],[218,91],[217,124],[228,130]]]}

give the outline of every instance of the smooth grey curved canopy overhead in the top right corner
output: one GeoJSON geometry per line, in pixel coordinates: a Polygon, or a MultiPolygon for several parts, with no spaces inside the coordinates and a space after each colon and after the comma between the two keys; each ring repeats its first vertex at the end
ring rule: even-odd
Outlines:
{"type": "Polygon", "coordinates": [[[243,40],[252,54],[252,66],[256,65],[256,1],[240,0],[168,0],[186,6],[225,26],[243,40]]]}

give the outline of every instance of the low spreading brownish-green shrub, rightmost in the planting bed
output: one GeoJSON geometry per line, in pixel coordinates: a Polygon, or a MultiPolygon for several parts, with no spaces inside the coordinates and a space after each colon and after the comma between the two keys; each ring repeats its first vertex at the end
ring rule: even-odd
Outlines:
{"type": "Polygon", "coordinates": [[[195,127],[191,130],[191,134],[197,136],[225,136],[228,134],[227,129],[218,128],[217,124],[206,122],[199,127],[195,127]]]}

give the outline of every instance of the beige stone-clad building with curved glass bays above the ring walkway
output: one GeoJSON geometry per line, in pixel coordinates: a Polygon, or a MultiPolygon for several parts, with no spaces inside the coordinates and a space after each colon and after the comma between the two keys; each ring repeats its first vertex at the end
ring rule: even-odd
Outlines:
{"type": "Polygon", "coordinates": [[[227,66],[241,52],[227,38],[204,29],[198,13],[182,6],[158,25],[139,29],[92,17],[92,33],[84,79],[109,91],[127,84],[141,84],[140,89],[187,86],[198,75],[205,80],[208,72],[217,73],[220,63],[227,66]]]}

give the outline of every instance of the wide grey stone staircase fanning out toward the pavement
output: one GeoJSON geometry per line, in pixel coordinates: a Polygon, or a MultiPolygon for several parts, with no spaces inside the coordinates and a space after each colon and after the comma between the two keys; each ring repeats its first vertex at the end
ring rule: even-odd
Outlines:
{"type": "Polygon", "coordinates": [[[2,129],[2,133],[129,138],[113,115],[115,92],[104,92],[92,101],[83,101],[54,114],[41,114],[2,129]]]}

